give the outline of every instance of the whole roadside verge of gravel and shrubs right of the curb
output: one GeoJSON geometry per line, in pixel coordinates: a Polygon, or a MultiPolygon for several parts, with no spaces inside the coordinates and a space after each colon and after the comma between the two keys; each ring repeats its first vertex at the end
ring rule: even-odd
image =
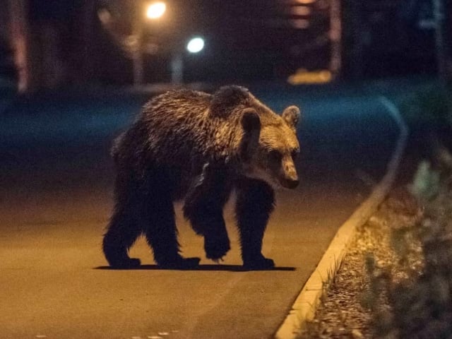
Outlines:
{"type": "Polygon", "coordinates": [[[435,86],[399,102],[414,131],[399,184],[300,338],[452,338],[451,97],[435,86]]]}

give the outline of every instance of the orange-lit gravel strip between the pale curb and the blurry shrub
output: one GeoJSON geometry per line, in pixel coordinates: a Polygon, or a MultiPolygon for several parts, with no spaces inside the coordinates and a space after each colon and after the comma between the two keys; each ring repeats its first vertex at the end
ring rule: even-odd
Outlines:
{"type": "Polygon", "coordinates": [[[407,266],[400,263],[394,248],[393,234],[412,227],[421,215],[422,209],[405,186],[391,191],[379,210],[357,230],[337,275],[325,287],[314,321],[308,323],[299,338],[374,338],[375,312],[384,317],[384,305],[389,306],[383,289],[369,276],[378,281],[379,276],[386,275],[388,267],[393,277],[400,280],[410,277],[411,269],[420,272],[420,243],[412,239],[412,248],[403,249],[417,254],[410,256],[410,272],[406,272],[407,266]],[[376,290],[381,293],[375,293],[376,290]]]}

